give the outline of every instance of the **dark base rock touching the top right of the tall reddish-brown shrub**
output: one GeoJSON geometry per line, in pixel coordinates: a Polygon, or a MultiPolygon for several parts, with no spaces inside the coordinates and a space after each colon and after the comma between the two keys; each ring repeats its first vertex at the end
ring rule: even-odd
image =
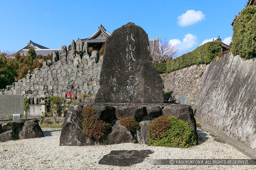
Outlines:
{"type": "Polygon", "coordinates": [[[94,108],[96,110],[97,117],[103,121],[107,121],[111,117],[111,120],[115,118],[114,115],[116,108],[113,106],[95,106],[94,108]]]}

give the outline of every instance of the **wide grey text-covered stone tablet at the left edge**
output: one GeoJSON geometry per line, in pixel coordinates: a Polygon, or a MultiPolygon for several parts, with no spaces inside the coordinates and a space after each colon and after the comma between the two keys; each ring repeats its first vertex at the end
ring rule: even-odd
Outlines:
{"type": "Polygon", "coordinates": [[[0,116],[24,115],[24,98],[22,95],[0,95],[0,116]]]}

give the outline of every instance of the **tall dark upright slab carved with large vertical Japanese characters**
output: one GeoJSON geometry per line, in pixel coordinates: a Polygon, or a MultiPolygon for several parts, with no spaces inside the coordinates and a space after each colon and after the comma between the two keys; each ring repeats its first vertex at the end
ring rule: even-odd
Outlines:
{"type": "Polygon", "coordinates": [[[108,37],[96,103],[163,103],[164,85],[148,47],[147,33],[131,22],[108,37]]]}

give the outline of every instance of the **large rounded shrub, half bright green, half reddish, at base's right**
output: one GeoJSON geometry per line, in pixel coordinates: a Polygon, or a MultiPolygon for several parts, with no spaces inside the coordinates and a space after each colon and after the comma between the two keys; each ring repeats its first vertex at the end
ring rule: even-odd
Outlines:
{"type": "Polygon", "coordinates": [[[196,138],[188,122],[163,115],[149,125],[148,145],[187,148],[196,145],[196,138]]]}

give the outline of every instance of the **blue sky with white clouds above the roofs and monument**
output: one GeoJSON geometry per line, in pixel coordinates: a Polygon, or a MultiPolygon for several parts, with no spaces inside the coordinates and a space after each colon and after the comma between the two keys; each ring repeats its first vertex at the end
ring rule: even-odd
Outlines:
{"type": "Polygon", "coordinates": [[[16,52],[29,40],[48,48],[87,38],[102,24],[110,33],[133,22],[149,38],[171,42],[179,55],[206,41],[230,43],[230,25],[247,0],[30,1],[0,0],[0,51],[16,52]]]}

